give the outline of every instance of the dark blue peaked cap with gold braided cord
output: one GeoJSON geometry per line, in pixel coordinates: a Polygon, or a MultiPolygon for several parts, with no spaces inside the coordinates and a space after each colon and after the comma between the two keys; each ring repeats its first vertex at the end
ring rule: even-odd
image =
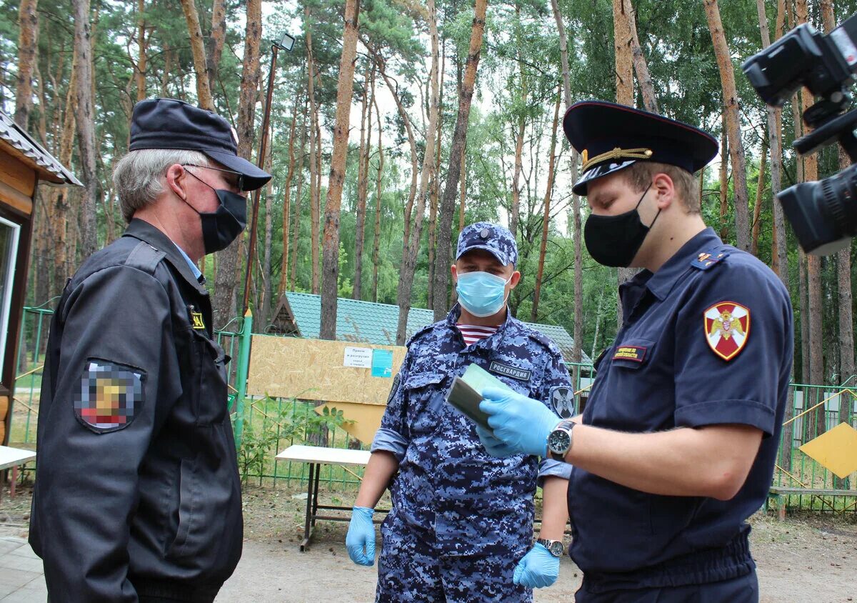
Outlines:
{"type": "Polygon", "coordinates": [[[583,161],[583,176],[572,187],[575,195],[586,195],[592,180],[637,161],[698,172],[714,159],[718,148],[713,136],[692,125],[605,100],[584,100],[568,107],[562,129],[583,161]]]}

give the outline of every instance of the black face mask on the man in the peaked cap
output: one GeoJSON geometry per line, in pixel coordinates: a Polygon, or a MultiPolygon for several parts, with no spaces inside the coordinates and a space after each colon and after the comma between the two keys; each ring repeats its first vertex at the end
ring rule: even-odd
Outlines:
{"type": "Polygon", "coordinates": [[[651,184],[646,187],[637,206],[629,212],[619,215],[590,214],[586,219],[584,241],[593,260],[604,266],[622,268],[633,261],[649,229],[655,226],[657,216],[661,214],[658,209],[655,220],[651,220],[649,226],[640,220],[637,208],[650,188],[651,184]]]}

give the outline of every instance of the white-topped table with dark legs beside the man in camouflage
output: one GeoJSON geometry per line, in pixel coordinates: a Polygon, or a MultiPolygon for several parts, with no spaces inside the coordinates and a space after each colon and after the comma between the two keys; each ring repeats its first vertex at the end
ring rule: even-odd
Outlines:
{"type": "Polygon", "coordinates": [[[330,504],[319,504],[319,474],[321,465],[362,465],[369,462],[369,450],[351,450],[345,448],[324,448],[323,446],[303,446],[293,444],[283,450],[276,458],[279,461],[300,461],[309,463],[309,481],[307,482],[307,514],[303,522],[303,541],[301,551],[309,548],[309,540],[313,535],[316,519],[326,519],[333,522],[348,522],[351,516],[321,516],[318,510],[351,511],[351,507],[339,507],[330,504]]]}

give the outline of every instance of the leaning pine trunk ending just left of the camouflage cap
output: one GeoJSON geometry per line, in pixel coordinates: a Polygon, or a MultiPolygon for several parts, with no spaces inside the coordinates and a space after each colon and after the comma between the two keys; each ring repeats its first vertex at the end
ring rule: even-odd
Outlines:
{"type": "Polygon", "coordinates": [[[440,200],[440,226],[437,238],[437,255],[434,262],[434,320],[446,315],[446,286],[449,282],[450,247],[452,245],[452,214],[455,211],[455,196],[458,178],[461,176],[459,160],[464,151],[467,138],[467,124],[470,118],[470,103],[473,99],[473,87],[476,83],[476,69],[482,50],[482,34],[485,31],[485,12],[488,0],[476,0],[473,15],[473,27],[470,30],[470,48],[464,81],[458,98],[458,118],[452,135],[452,148],[449,152],[449,170],[446,174],[446,186],[440,200]]]}

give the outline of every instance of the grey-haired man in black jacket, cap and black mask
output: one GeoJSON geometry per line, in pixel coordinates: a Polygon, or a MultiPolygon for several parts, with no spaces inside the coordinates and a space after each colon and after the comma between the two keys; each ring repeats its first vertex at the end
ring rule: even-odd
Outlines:
{"type": "Polygon", "coordinates": [[[122,238],[90,256],[51,323],[30,543],[55,601],[212,601],[243,522],[225,365],[195,262],[271,178],[213,112],[148,99],[113,179],[122,238]]]}

